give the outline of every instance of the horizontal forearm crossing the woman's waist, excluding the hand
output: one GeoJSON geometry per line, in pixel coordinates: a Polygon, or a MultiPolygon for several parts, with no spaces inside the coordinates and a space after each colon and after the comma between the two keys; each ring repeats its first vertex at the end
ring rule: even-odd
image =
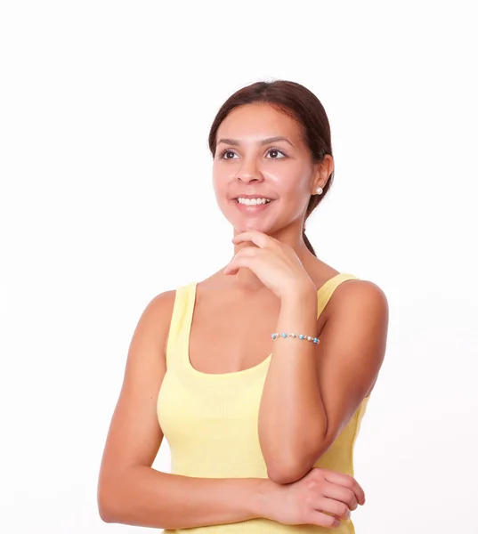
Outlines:
{"type": "Polygon", "coordinates": [[[127,468],[99,491],[105,522],[160,529],[187,529],[264,517],[267,479],[208,479],[127,468]]]}

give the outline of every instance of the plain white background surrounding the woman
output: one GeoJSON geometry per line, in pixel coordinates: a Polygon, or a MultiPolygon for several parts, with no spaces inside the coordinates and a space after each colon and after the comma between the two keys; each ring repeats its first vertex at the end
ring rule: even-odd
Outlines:
{"type": "Polygon", "coordinates": [[[208,129],[272,78],[310,88],[332,127],[312,245],[390,305],[356,530],[478,531],[472,4],[2,3],[2,531],[142,531],[96,505],[128,344],[154,295],[231,258],[208,129]]]}

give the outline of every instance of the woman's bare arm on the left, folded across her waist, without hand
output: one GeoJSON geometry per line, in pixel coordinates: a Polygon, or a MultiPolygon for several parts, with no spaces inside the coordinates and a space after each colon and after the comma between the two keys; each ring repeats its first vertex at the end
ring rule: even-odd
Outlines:
{"type": "Polygon", "coordinates": [[[269,488],[267,479],[199,479],[151,467],[163,440],[157,401],[174,295],[168,291],[156,296],[134,331],[101,460],[101,519],[180,529],[260,517],[256,508],[262,499],[256,497],[269,488]]]}

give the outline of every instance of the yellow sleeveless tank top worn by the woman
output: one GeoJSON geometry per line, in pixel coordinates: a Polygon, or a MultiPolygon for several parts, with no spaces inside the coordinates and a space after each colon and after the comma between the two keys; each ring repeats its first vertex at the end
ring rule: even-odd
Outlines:
{"type": "MultiPolygon", "coordinates": [[[[342,282],[356,279],[340,273],[317,292],[318,317],[342,282]]],[[[190,365],[189,336],[197,282],[178,287],[166,346],[166,375],[158,393],[158,421],[171,451],[171,473],[201,478],[267,478],[257,432],[259,403],[271,354],[253,368],[209,374],[190,365]]],[[[353,446],[369,397],[366,397],[328,451],[316,462],[353,476],[353,446]]],[[[186,496],[185,496],[186,497],[186,496]]],[[[252,519],[166,533],[280,534],[335,532],[352,534],[352,520],[338,529],[284,525],[252,519]]]]}

